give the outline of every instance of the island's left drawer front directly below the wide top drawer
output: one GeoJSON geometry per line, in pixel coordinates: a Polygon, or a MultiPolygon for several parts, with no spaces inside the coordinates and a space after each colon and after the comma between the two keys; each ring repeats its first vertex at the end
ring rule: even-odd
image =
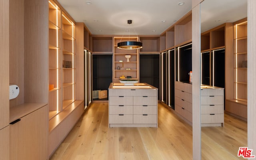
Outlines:
{"type": "Polygon", "coordinates": [[[133,105],[132,96],[109,96],[108,103],[110,106],[133,105]]]}

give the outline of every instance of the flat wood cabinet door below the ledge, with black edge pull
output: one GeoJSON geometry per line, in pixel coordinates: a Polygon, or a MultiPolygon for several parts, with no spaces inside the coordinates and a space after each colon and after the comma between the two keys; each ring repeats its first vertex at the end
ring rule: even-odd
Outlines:
{"type": "Polygon", "coordinates": [[[46,160],[48,106],[44,106],[10,124],[10,160],[46,160]]]}

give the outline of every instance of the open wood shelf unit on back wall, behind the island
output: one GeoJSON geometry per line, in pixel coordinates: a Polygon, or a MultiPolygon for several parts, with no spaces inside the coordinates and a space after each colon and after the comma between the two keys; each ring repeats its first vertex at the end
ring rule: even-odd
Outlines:
{"type": "Polygon", "coordinates": [[[138,77],[138,50],[122,50],[117,48],[119,42],[124,41],[138,41],[138,37],[114,37],[114,64],[113,64],[113,80],[112,82],[118,83],[121,76],[131,76],[132,79],[139,79],[138,77]],[[124,57],[125,55],[131,55],[129,62],[124,57]],[[121,62],[120,62],[121,61],[121,62]],[[119,69],[119,67],[120,69],[119,69]],[[122,68],[122,69],[121,69],[122,68]]]}

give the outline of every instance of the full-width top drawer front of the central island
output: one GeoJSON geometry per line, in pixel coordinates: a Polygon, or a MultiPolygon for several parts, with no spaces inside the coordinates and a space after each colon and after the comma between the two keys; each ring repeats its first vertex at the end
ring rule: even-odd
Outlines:
{"type": "Polygon", "coordinates": [[[110,89],[109,96],[157,96],[157,89],[110,89]]]}

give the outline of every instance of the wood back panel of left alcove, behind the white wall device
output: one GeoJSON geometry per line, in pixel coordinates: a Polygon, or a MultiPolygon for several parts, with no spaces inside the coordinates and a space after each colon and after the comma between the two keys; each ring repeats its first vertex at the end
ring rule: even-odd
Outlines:
{"type": "Polygon", "coordinates": [[[10,0],[10,84],[20,88],[10,107],[24,103],[24,0],[10,0]],[[15,18],[14,18],[15,17],[15,18]]]}

